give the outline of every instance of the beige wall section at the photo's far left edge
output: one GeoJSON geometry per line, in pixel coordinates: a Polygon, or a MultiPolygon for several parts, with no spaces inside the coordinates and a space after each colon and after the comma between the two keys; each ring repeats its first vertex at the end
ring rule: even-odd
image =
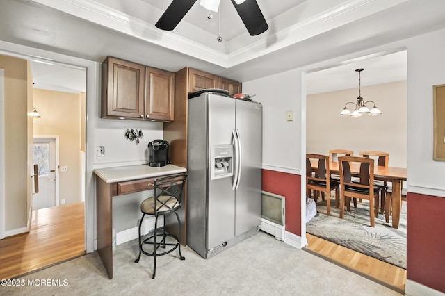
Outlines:
{"type": "Polygon", "coordinates": [[[29,111],[26,60],[0,56],[4,69],[5,102],[5,234],[26,231],[29,176],[27,158],[29,111]]]}

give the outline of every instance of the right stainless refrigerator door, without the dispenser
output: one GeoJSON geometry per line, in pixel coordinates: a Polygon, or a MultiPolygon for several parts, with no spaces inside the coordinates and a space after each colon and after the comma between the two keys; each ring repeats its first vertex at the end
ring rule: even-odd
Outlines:
{"type": "Polygon", "coordinates": [[[241,174],[236,189],[235,236],[261,225],[262,106],[236,101],[241,174]]]}

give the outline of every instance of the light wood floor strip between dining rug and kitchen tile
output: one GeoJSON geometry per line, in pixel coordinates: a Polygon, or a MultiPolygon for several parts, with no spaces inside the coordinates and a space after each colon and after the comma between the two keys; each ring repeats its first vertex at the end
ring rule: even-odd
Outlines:
{"type": "Polygon", "coordinates": [[[405,294],[406,270],[306,233],[305,249],[405,294]]]}

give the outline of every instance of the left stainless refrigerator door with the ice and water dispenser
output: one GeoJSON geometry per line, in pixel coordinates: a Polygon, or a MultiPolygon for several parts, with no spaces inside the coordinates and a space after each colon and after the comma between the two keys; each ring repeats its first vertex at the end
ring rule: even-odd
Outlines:
{"type": "MultiPolygon", "coordinates": [[[[207,124],[209,151],[212,147],[231,147],[235,128],[235,100],[207,94],[207,124]]],[[[228,149],[228,151],[231,151],[228,149]]],[[[209,156],[209,165],[215,165],[209,156]]],[[[235,192],[232,174],[220,179],[208,175],[209,193],[207,206],[207,249],[213,249],[235,236],[235,192]]]]}

